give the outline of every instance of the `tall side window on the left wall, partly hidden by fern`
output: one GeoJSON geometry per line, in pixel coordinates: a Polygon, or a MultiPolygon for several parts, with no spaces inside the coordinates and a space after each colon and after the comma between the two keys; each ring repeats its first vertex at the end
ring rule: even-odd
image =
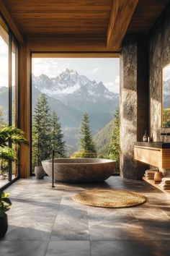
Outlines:
{"type": "MultiPolygon", "coordinates": [[[[18,46],[11,30],[0,16],[0,127],[17,127],[18,46]]],[[[13,145],[10,145],[11,147],[13,145]]],[[[16,151],[17,154],[17,151],[16,151]]],[[[18,176],[15,163],[0,160],[0,187],[18,176]]]]}

